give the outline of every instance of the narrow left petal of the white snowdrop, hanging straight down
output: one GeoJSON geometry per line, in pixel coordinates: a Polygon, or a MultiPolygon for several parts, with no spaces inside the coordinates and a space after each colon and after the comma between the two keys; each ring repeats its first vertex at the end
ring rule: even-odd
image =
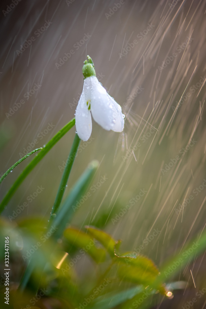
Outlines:
{"type": "Polygon", "coordinates": [[[86,104],[85,92],[83,88],[75,116],[77,134],[83,141],[87,141],[90,138],[92,130],[91,113],[88,110],[88,106],[86,104]]]}

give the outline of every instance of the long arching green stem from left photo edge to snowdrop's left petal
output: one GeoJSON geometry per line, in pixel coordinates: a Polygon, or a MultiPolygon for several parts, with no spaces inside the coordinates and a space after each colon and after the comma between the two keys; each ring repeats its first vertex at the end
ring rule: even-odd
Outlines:
{"type": "Polygon", "coordinates": [[[19,175],[15,183],[9,189],[5,197],[3,198],[0,204],[0,213],[4,210],[4,207],[10,201],[11,197],[23,182],[23,180],[27,177],[27,175],[32,171],[32,169],[40,162],[41,159],[48,153],[48,151],[64,136],[73,126],[75,125],[75,118],[69,121],[39,152],[39,154],[27,165],[27,167],[23,170],[23,172],[19,175]]]}

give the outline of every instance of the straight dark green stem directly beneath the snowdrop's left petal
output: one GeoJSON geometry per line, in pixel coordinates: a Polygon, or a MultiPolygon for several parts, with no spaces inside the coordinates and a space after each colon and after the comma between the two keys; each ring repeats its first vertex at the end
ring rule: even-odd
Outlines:
{"type": "Polygon", "coordinates": [[[60,182],[60,185],[59,185],[59,188],[58,188],[58,191],[57,191],[57,196],[56,196],[56,199],[54,201],[54,205],[53,205],[53,208],[52,208],[52,212],[51,212],[49,222],[51,222],[52,218],[54,217],[53,214],[56,214],[56,212],[57,212],[57,210],[58,210],[58,208],[61,204],[64,192],[65,192],[66,184],[68,182],[69,175],[70,175],[73,163],[74,163],[74,159],[77,155],[79,143],[80,143],[80,138],[78,137],[77,134],[75,134],[74,142],[72,144],[72,148],[70,150],[70,153],[69,153],[69,156],[68,156],[68,159],[67,159],[67,162],[66,162],[66,167],[64,169],[64,172],[63,172],[63,175],[62,175],[62,178],[61,178],[61,182],[60,182]]]}

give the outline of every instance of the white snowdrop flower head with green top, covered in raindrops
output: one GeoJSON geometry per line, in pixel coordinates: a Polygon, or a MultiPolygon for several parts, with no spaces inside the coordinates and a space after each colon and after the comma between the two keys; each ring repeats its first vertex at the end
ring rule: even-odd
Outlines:
{"type": "Polygon", "coordinates": [[[91,114],[103,129],[115,132],[123,131],[125,117],[121,106],[108,95],[106,89],[96,78],[92,59],[89,56],[87,58],[82,69],[84,86],[75,114],[77,134],[83,141],[87,141],[91,135],[91,114]]]}

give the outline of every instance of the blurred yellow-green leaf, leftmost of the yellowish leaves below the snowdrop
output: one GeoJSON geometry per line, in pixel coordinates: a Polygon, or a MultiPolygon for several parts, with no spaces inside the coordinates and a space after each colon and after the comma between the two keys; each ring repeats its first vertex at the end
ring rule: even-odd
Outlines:
{"type": "Polygon", "coordinates": [[[64,231],[64,236],[70,245],[78,248],[85,248],[86,252],[96,261],[103,262],[105,260],[105,251],[95,246],[95,239],[78,229],[69,227],[64,231]]]}

